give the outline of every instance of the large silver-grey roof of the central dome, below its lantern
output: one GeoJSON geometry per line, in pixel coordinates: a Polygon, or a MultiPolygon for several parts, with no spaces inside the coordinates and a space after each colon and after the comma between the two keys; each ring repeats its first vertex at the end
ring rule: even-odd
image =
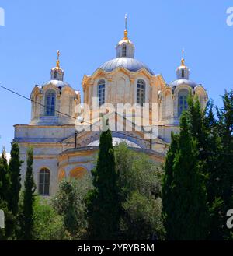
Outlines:
{"type": "Polygon", "coordinates": [[[144,63],[142,63],[141,61],[137,61],[135,58],[113,58],[110,61],[106,61],[99,68],[103,69],[106,72],[111,72],[120,66],[126,68],[131,72],[137,72],[141,68],[145,68],[151,75],[154,75],[154,72],[152,72],[152,70],[148,68],[147,65],[144,65],[144,63]]]}

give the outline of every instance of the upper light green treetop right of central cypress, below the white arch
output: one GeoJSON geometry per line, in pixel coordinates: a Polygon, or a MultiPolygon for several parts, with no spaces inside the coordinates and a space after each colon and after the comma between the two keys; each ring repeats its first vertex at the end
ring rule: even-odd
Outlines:
{"type": "Polygon", "coordinates": [[[158,197],[161,191],[161,166],[144,153],[136,153],[121,142],[115,149],[116,168],[122,200],[133,191],[158,197]]]}

